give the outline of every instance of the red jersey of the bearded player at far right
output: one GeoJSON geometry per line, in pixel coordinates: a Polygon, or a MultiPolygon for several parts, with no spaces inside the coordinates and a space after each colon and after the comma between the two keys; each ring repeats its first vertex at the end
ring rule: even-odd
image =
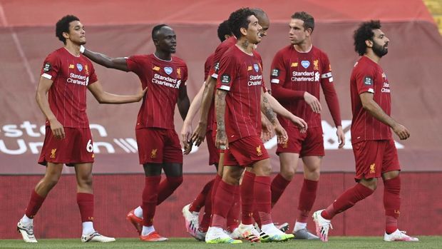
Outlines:
{"type": "Polygon", "coordinates": [[[362,108],[359,94],[364,92],[373,93],[374,101],[390,116],[390,83],[381,66],[366,56],[362,56],[351,71],[351,143],[393,139],[390,127],[362,108]]]}

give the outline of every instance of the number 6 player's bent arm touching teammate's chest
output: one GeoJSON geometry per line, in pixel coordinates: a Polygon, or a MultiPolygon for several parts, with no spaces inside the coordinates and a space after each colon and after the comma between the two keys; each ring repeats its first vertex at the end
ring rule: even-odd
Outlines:
{"type": "Polygon", "coordinates": [[[95,83],[88,85],[89,91],[91,91],[92,95],[96,98],[98,103],[133,103],[138,102],[143,98],[145,92],[148,91],[146,87],[144,90],[140,89],[138,93],[135,95],[117,95],[113,93],[108,93],[103,90],[103,86],[101,86],[100,81],[96,81],[95,83]]]}

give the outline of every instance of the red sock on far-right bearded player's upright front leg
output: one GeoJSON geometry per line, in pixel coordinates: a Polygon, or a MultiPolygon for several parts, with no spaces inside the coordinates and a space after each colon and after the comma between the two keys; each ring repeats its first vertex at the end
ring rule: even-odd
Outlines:
{"type": "Polygon", "coordinates": [[[401,178],[384,181],[384,208],[386,215],[385,231],[390,234],[398,229],[398,218],[401,213],[401,178]]]}

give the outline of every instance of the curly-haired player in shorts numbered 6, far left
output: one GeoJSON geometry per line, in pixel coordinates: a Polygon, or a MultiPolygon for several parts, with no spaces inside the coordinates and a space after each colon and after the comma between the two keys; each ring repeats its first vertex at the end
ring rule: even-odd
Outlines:
{"type": "Polygon", "coordinates": [[[99,103],[140,101],[145,91],[135,96],[119,96],[103,91],[91,61],[80,54],[86,44],[84,26],[76,16],[64,16],[56,24],[56,36],[64,46],[49,54],[41,69],[36,101],[46,116],[46,135],[38,163],[46,166],[45,176],[32,191],[25,215],[17,230],[27,243],[37,243],[34,216],[46,195],[56,186],[63,164],[73,166],[77,181],[77,203],[83,232],[82,242],[112,242],[93,228],[92,163],[93,141],[86,115],[86,88],[99,103]],[[46,97],[46,94],[48,97],[46,97]]]}

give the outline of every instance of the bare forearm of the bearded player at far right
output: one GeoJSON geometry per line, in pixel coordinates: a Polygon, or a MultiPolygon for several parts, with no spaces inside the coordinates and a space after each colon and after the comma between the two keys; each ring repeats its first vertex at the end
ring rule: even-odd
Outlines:
{"type": "Polygon", "coordinates": [[[381,106],[374,101],[373,93],[364,92],[359,94],[359,97],[361,98],[362,107],[368,111],[371,116],[374,116],[377,120],[381,121],[382,123],[385,123],[387,126],[390,126],[394,133],[396,133],[401,140],[405,140],[410,137],[410,132],[408,129],[395,121],[391,116],[389,116],[387,113],[382,110],[381,106]]]}

